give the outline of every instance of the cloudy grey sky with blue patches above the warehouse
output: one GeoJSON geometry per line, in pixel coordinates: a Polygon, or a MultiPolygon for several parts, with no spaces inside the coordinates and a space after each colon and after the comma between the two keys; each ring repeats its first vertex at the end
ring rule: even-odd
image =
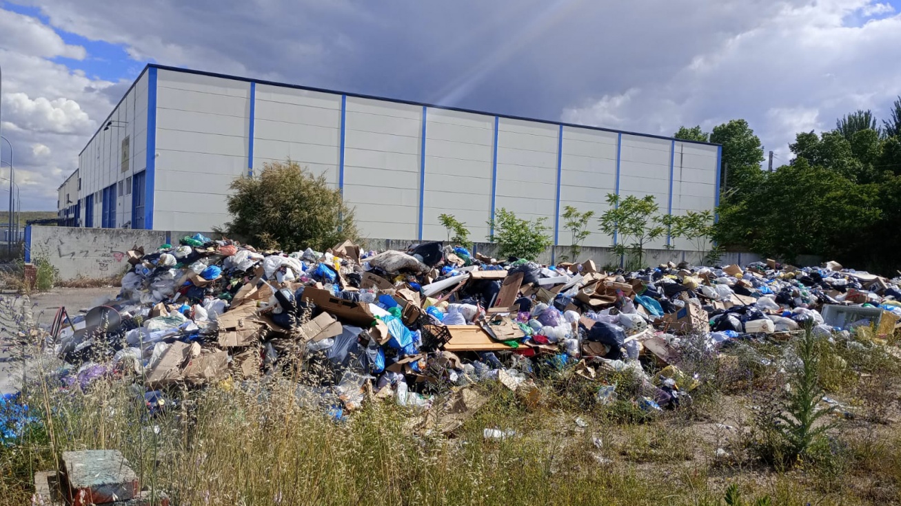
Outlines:
{"type": "Polygon", "coordinates": [[[901,95],[899,13],[901,0],[0,0],[2,131],[25,210],[55,209],[151,61],[664,135],[745,118],[779,163],[796,131],[884,116],[901,95]]]}

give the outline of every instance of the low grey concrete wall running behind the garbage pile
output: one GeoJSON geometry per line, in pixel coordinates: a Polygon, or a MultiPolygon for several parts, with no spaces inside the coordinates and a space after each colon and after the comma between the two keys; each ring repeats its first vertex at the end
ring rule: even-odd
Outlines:
{"type": "MultiPolygon", "coordinates": [[[[98,278],[122,275],[128,268],[125,252],[143,246],[146,251],[157,248],[168,241],[175,244],[185,236],[196,232],[183,230],[124,230],[124,229],[78,229],[67,227],[30,226],[25,233],[25,260],[46,258],[59,270],[60,279],[69,280],[79,276],[98,278]]],[[[202,232],[205,236],[217,239],[220,236],[212,232],[202,232]]],[[[366,249],[405,249],[419,241],[414,239],[366,239],[362,246],[366,249]]],[[[487,257],[497,257],[498,246],[488,242],[477,242],[473,252],[487,257]]],[[[569,255],[569,246],[553,248],[554,258],[569,255]]],[[[577,261],[594,260],[598,268],[619,266],[619,258],[611,248],[582,248],[577,261]]],[[[543,264],[551,263],[551,248],[546,249],[538,258],[543,264]]],[[[724,253],[720,265],[739,264],[746,266],[752,262],[765,261],[766,258],[754,253],[724,253]]],[[[798,258],[801,266],[818,265],[820,258],[805,256],[798,258]]],[[[644,264],[656,267],[660,264],[687,261],[692,265],[701,265],[702,254],[698,251],[682,249],[646,249],[644,264]]]]}

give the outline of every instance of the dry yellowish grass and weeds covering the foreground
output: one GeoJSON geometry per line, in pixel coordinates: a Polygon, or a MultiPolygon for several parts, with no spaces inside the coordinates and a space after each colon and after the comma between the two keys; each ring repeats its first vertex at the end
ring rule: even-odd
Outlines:
{"type": "Polygon", "coordinates": [[[657,417],[642,416],[622,375],[605,377],[620,385],[608,406],[593,402],[600,382],[568,373],[538,380],[542,400],[529,407],[500,384],[478,384],[489,401],[451,437],[411,429],[415,414],[391,401],[369,400],[336,422],[302,406],[287,377],[175,388],[176,402],[151,417],[139,376],[82,392],[60,389],[48,368],[24,393],[41,424],[0,447],[0,497],[28,503],[32,473],[53,468],[63,450],[115,448],[145,486],[181,505],[716,505],[731,484],[748,504],[897,503],[897,367],[878,348],[824,348],[844,359],[838,393],[859,416],[842,420],[815,458],[780,469],[754,456],[748,437],[760,385],[772,386],[763,378],[779,367],[759,358],[777,354],[767,343],[749,347],[738,362],[754,371],[714,376],[694,403],[657,417]],[[866,372],[874,364],[879,381],[866,372]],[[514,436],[486,439],[487,428],[514,436]]]}

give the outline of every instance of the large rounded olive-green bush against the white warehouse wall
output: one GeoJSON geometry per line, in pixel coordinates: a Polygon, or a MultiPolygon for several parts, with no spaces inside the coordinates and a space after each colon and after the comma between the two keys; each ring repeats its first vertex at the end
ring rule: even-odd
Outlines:
{"type": "Polygon", "coordinates": [[[224,231],[261,248],[322,250],[358,239],[354,212],[341,190],[290,159],[267,163],[259,176],[235,179],[230,189],[232,221],[224,231]]]}

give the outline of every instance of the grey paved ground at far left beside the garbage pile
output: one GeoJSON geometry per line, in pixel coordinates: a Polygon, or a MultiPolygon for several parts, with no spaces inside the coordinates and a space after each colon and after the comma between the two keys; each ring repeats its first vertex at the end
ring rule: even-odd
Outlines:
{"type": "Polygon", "coordinates": [[[0,294],[0,394],[18,392],[23,371],[32,375],[38,366],[32,349],[24,350],[23,361],[23,346],[17,338],[20,331],[33,325],[49,327],[59,306],[75,316],[79,310],[105,303],[118,292],[118,288],[60,288],[32,297],[0,294]]]}

